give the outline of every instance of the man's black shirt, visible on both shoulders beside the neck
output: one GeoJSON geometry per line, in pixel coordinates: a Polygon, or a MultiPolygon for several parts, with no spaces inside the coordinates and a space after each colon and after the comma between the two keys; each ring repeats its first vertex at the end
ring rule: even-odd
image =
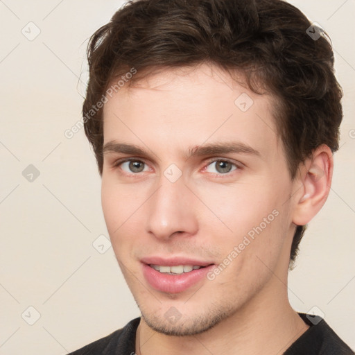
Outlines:
{"type": "MultiPolygon", "coordinates": [[[[323,319],[311,322],[312,315],[299,313],[307,329],[284,355],[354,355],[323,319]]],[[[136,331],[141,318],[135,318],[122,329],[94,341],[69,355],[134,355],[136,331]]]]}

